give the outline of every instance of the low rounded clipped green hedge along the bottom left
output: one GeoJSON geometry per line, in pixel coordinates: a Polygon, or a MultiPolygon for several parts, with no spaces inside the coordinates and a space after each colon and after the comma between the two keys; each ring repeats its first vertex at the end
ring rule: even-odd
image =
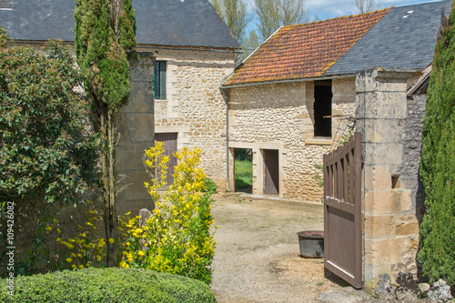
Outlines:
{"type": "MultiPolygon", "coordinates": [[[[5,280],[4,280],[5,281],[5,280]]],[[[217,302],[207,284],[192,278],[133,268],[86,268],[7,281],[0,302],[217,302]]]]}

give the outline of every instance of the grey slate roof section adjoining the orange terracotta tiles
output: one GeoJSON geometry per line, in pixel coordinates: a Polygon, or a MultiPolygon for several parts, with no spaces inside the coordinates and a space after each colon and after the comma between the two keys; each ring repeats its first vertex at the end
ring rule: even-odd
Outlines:
{"type": "Polygon", "coordinates": [[[434,55],[442,5],[440,1],[393,7],[324,76],[355,74],[373,67],[425,68],[434,55]]]}

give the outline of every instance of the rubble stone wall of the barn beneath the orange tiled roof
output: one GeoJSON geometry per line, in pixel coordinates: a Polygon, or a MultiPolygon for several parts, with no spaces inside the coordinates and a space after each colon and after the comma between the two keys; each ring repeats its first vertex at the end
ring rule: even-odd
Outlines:
{"type": "Polygon", "coordinates": [[[234,148],[253,151],[253,194],[264,193],[264,149],[278,149],[279,197],[320,202],[322,155],[353,126],[355,79],[332,81],[332,138],[314,137],[314,83],[289,82],[227,89],[229,186],[234,190],[234,148]]]}

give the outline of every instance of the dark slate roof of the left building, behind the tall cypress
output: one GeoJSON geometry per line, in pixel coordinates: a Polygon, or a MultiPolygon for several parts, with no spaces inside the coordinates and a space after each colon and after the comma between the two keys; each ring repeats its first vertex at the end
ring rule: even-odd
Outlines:
{"type": "MultiPolygon", "coordinates": [[[[18,0],[0,10],[11,39],[74,41],[75,0],[18,0]]],[[[134,0],[138,45],[239,48],[208,0],[134,0]]]]}

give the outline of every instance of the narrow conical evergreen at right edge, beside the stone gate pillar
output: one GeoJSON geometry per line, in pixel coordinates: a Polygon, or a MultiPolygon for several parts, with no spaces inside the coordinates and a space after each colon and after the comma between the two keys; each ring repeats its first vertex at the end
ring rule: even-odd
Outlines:
{"type": "Polygon", "coordinates": [[[422,134],[426,213],[418,255],[423,275],[455,285],[455,11],[435,49],[422,134]]]}

